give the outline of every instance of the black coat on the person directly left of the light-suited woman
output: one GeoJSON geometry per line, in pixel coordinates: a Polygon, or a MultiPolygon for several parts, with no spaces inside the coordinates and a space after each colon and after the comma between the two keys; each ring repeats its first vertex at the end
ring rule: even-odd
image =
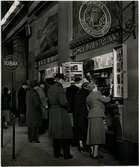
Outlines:
{"type": "Polygon", "coordinates": [[[87,135],[88,110],[86,106],[86,97],[88,96],[88,94],[89,92],[85,89],[79,90],[74,103],[74,125],[77,131],[76,133],[81,140],[86,140],[87,135]]]}

